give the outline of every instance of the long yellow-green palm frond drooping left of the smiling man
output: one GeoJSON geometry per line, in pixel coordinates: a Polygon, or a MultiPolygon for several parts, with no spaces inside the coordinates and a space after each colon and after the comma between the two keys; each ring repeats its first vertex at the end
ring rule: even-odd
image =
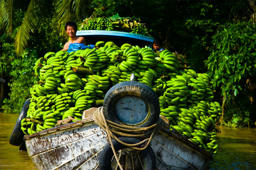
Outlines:
{"type": "Polygon", "coordinates": [[[31,0],[28,5],[23,22],[18,29],[15,37],[14,46],[16,54],[19,56],[25,50],[31,33],[37,29],[37,10],[39,9],[39,0],[31,0]]]}

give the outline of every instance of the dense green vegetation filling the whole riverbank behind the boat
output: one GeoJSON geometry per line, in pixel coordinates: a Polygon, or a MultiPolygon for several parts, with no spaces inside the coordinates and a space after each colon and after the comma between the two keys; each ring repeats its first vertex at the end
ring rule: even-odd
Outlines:
{"type": "Polygon", "coordinates": [[[4,112],[19,113],[33,84],[31,63],[48,51],[62,49],[67,40],[63,28],[66,21],[81,23],[91,15],[109,17],[118,13],[140,18],[151,36],[164,40],[165,49],[185,57],[187,68],[211,75],[215,100],[223,103],[221,123],[255,126],[255,0],[31,0],[22,4],[0,0],[0,4],[4,112]]]}

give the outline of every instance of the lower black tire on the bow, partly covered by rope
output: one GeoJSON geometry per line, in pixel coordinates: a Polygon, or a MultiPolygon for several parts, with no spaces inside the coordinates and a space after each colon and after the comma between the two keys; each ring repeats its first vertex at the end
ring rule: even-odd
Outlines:
{"type": "MultiPolygon", "coordinates": [[[[139,139],[133,138],[133,137],[119,137],[118,139],[121,140],[122,142],[129,143],[129,144],[135,144],[140,142],[139,139]]],[[[121,143],[117,142],[116,140],[112,140],[112,142],[116,152],[121,149],[128,148],[122,145],[121,143]]],[[[141,144],[141,146],[142,145],[143,144],[141,144]]],[[[141,146],[138,146],[138,147],[141,147],[141,146]]],[[[146,149],[141,151],[141,155],[142,155],[142,162],[144,163],[143,170],[155,170],[156,159],[155,159],[155,154],[153,149],[150,146],[148,146],[146,149]]],[[[111,146],[107,144],[100,153],[100,157],[99,157],[100,170],[112,170],[111,160],[113,156],[114,156],[113,150],[111,146]]]]}

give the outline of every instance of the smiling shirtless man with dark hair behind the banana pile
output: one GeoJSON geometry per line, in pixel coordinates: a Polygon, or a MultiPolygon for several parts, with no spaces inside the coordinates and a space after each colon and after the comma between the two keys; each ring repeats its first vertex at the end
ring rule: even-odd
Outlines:
{"type": "Polygon", "coordinates": [[[68,50],[69,44],[73,44],[73,43],[80,43],[80,44],[86,45],[86,41],[84,37],[76,36],[77,25],[75,22],[73,21],[66,22],[65,30],[66,30],[66,33],[69,35],[70,40],[66,42],[62,50],[68,50]]]}

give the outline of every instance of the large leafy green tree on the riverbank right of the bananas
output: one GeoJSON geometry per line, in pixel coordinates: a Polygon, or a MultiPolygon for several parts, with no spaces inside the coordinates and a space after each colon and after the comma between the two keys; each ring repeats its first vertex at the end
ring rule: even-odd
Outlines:
{"type": "Polygon", "coordinates": [[[232,119],[233,126],[250,126],[256,120],[255,29],[252,21],[222,26],[212,37],[211,54],[205,61],[213,86],[223,96],[226,118],[232,119]]]}

